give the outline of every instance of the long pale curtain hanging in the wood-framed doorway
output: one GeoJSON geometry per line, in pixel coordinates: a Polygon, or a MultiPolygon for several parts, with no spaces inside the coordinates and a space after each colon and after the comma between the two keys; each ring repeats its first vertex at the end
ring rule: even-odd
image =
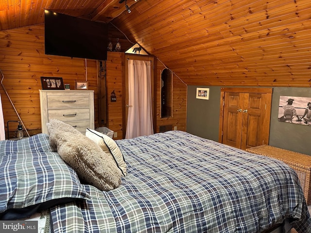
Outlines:
{"type": "Polygon", "coordinates": [[[128,89],[125,138],[153,134],[151,62],[128,60],[128,89]]]}

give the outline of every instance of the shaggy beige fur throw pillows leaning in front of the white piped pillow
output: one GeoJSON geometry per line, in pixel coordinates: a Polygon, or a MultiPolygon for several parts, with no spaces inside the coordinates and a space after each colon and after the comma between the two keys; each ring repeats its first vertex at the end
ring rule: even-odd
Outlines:
{"type": "Polygon", "coordinates": [[[121,184],[121,171],[111,157],[85,135],[72,133],[66,127],[64,130],[62,124],[48,126],[50,141],[56,145],[61,158],[77,172],[80,179],[98,189],[109,191],[117,188],[121,184]],[[60,129],[54,128],[56,125],[61,125],[60,129]]]}

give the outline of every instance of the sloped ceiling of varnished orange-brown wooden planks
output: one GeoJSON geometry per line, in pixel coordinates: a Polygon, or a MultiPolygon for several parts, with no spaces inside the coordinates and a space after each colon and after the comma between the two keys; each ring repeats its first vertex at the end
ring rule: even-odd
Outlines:
{"type": "Polygon", "coordinates": [[[109,22],[189,85],[311,85],[310,0],[0,0],[0,30],[44,9],[109,22]]]}

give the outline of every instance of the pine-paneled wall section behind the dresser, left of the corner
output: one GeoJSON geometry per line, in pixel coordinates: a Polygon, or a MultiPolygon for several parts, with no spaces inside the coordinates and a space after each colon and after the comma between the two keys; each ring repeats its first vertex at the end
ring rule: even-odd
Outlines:
{"type": "MultiPolygon", "coordinates": [[[[0,31],[2,84],[31,135],[41,132],[38,91],[41,89],[41,76],[62,77],[71,89],[74,89],[75,80],[87,78],[88,89],[95,93],[95,124],[98,124],[97,66],[96,60],[45,55],[43,24],[0,31]]],[[[18,120],[2,87],[0,94],[5,125],[9,120],[18,120]]],[[[16,126],[10,123],[10,131],[14,131],[16,126]]]]}

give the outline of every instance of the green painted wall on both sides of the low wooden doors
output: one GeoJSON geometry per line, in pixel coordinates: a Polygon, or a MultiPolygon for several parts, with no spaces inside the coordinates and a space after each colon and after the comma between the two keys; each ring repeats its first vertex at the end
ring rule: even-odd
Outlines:
{"type": "MultiPolygon", "coordinates": [[[[188,86],[187,132],[218,141],[220,86],[188,86]],[[196,99],[196,88],[209,88],[209,100],[196,99]]],[[[280,96],[311,97],[311,88],[273,87],[269,145],[311,155],[311,126],[277,120],[280,96]]]]}

